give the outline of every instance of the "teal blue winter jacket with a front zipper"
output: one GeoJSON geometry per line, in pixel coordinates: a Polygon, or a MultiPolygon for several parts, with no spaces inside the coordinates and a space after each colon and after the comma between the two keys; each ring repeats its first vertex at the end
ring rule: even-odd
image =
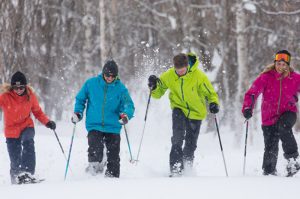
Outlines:
{"type": "Polygon", "coordinates": [[[120,114],[125,113],[131,119],[134,113],[133,101],[120,79],[108,84],[102,74],[88,79],[76,95],[74,112],[82,116],[85,108],[88,132],[120,134],[120,114]]]}

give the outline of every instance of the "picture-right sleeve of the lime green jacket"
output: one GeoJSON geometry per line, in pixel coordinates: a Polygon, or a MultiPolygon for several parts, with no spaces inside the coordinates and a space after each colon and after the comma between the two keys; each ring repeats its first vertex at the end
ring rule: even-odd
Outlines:
{"type": "Polygon", "coordinates": [[[202,73],[203,81],[200,85],[200,90],[204,94],[205,98],[207,99],[208,103],[215,102],[219,104],[219,97],[216,93],[214,87],[212,86],[211,82],[207,78],[207,76],[202,73]]]}

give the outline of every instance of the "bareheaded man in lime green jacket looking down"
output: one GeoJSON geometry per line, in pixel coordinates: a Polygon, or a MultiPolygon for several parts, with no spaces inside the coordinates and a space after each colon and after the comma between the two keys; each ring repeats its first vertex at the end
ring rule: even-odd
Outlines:
{"type": "Polygon", "coordinates": [[[170,90],[173,123],[170,177],[180,176],[185,167],[193,166],[201,122],[207,115],[206,101],[211,113],[219,112],[218,95],[204,72],[198,69],[197,56],[180,53],[173,58],[173,63],[174,67],[159,78],[151,75],[148,79],[153,98],[159,99],[170,90]]]}

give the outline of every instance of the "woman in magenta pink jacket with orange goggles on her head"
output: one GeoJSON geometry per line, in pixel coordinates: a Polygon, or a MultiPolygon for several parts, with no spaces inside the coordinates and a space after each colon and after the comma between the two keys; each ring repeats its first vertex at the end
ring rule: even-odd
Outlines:
{"type": "Polygon", "coordinates": [[[244,97],[242,112],[252,117],[257,97],[262,93],[261,115],[264,136],[263,174],[276,175],[278,144],[282,142],[284,157],[288,160],[287,176],[300,170],[298,146],[292,127],[297,119],[297,94],[300,92],[300,74],[290,67],[291,54],[287,50],[276,53],[274,64],[267,66],[257,77],[244,97]]]}

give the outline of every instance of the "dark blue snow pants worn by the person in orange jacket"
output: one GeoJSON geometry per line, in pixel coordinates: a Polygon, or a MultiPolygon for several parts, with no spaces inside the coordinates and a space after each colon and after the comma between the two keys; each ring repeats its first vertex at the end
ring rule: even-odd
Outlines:
{"type": "Polygon", "coordinates": [[[19,138],[6,138],[10,158],[11,183],[15,184],[17,175],[22,172],[35,172],[34,128],[25,128],[19,138]]]}

